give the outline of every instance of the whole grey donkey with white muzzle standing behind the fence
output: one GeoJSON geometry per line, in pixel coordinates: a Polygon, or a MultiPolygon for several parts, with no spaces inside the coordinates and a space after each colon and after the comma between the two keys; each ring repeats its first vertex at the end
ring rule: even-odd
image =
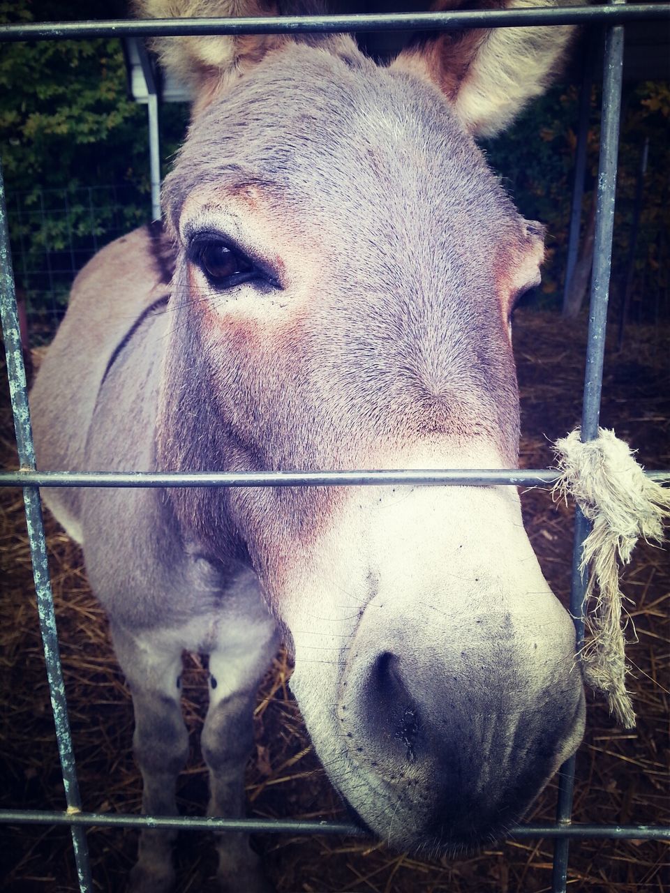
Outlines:
{"type": "MultiPolygon", "coordinates": [[[[345,36],[164,39],[196,95],[164,234],[113,242],[75,281],[31,396],[39,467],[516,467],[510,318],[539,281],[543,231],[474,138],[540,93],[570,37],[419,34],[383,65],[345,36]]],[[[148,814],[177,811],[183,649],[209,655],[214,815],[243,811],[255,689],[280,638],[326,772],[391,847],[496,839],[582,739],[573,624],[513,488],[45,498],[109,615],[148,814]]],[[[217,846],[220,889],[266,889],[246,838],[217,846]]],[[[143,832],[131,889],[171,888],[171,847],[143,832]]]]}

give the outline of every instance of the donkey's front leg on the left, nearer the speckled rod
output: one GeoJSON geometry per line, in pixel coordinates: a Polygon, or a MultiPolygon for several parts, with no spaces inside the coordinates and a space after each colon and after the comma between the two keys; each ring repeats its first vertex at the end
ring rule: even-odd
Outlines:
{"type": "MultiPolygon", "coordinates": [[[[113,628],[121,669],[130,683],[135,733],[133,748],[142,772],[142,812],[176,815],[177,776],[188,756],[188,732],[181,715],[181,649],[155,647],[153,638],[113,628]],[[150,645],[149,642],[152,641],[150,645]]],[[[130,893],[166,893],[174,884],[172,844],[176,830],[142,830],[130,893]]]]}

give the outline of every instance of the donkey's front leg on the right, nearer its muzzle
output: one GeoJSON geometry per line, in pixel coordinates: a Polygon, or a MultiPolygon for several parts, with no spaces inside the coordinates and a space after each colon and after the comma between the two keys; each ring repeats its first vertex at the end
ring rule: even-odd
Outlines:
{"type": "MultiPolygon", "coordinates": [[[[210,702],[201,738],[210,777],[207,812],[223,818],[245,814],[244,773],[254,743],[256,689],[277,647],[273,624],[248,623],[242,635],[244,641],[233,649],[222,648],[209,658],[210,702]],[[254,632],[255,636],[249,635],[254,632]]],[[[246,834],[217,834],[216,847],[218,889],[225,893],[272,889],[246,834]]]]}

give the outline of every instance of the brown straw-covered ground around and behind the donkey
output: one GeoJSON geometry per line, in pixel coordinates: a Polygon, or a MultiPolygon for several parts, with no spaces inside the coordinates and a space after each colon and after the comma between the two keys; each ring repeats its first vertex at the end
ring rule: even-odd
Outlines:
{"type": "MultiPolygon", "coordinates": [[[[647,467],[670,467],[667,330],[629,330],[621,355],[607,355],[601,423],[639,450],[647,467]],[[665,337],[665,343],[664,343],[665,337]]],[[[515,351],[522,390],[522,463],[550,461],[549,440],[579,421],[585,343],[583,321],[520,313],[515,351]]],[[[4,465],[15,464],[6,388],[2,389],[4,465]]],[[[0,761],[4,807],[64,805],[44,660],[38,634],[21,494],[0,493],[0,761]]],[[[523,507],[533,546],[559,597],[570,580],[572,509],[531,490],[523,507]]],[[[105,617],[88,590],[80,551],[46,519],[56,612],[83,803],[88,810],[138,812],[140,781],[130,754],[132,708],[106,631],[105,617]]],[[[589,697],[587,736],[577,757],[574,817],[580,822],[670,822],[668,688],[670,688],[670,567],[666,553],[642,545],[624,574],[638,640],[629,647],[638,714],[635,730],[616,727],[607,707],[589,697]]],[[[256,747],[247,773],[253,814],[271,817],[341,817],[289,697],[290,668],[280,655],[264,680],[256,708],[256,747]]],[[[197,751],[205,714],[206,667],[189,656],[184,711],[192,753],[180,780],[180,806],[198,814],[206,802],[206,774],[197,751]]],[[[552,783],[530,819],[551,821],[552,783]]],[[[0,882],[6,893],[65,893],[77,888],[69,832],[6,827],[0,848],[0,882]]],[[[89,830],[97,889],[121,891],[134,857],[133,831],[89,830]]],[[[257,846],[277,888],[284,891],[376,893],[540,893],[550,889],[550,841],[508,842],[470,858],[423,862],[351,839],[261,836],[257,846]]],[[[668,847],[660,842],[574,841],[572,889],[596,893],[670,890],[668,847]]],[[[205,836],[182,832],[179,893],[195,891],[214,872],[205,836]]],[[[240,891],[243,893],[243,891],[240,891]]]]}

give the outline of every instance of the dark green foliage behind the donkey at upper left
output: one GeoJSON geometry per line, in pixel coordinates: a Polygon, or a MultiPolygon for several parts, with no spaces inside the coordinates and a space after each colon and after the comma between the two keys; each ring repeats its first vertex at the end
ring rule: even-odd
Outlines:
{"type": "MultiPolygon", "coordinates": [[[[125,4],[104,6],[105,17],[126,14],[125,4]]],[[[90,4],[0,2],[4,22],[77,18],[91,18],[90,4]]],[[[182,137],[184,112],[162,117],[164,154],[182,137]]],[[[40,310],[54,293],[65,299],[72,268],[150,216],[147,110],[128,96],[121,42],[3,45],[0,151],[17,285],[40,310]]]]}

